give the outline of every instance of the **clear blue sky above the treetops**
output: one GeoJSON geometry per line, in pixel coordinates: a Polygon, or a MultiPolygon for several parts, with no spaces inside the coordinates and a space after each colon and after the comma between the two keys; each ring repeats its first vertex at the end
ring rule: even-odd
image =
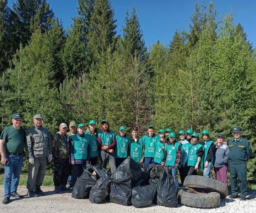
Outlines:
{"type": "MultiPolygon", "coordinates": [[[[12,5],[9,0],[9,6],[12,5]]],[[[206,5],[210,0],[204,0],[206,5]]],[[[71,17],[77,15],[77,0],[47,0],[53,9],[55,16],[62,17],[63,26],[66,28],[72,23],[71,17]]],[[[198,0],[199,4],[203,0],[198,0]]],[[[256,1],[251,0],[214,0],[215,8],[219,12],[217,19],[225,13],[232,11],[235,14],[235,24],[240,22],[247,34],[247,39],[256,44],[256,1]]],[[[191,23],[190,17],[194,11],[193,0],[112,0],[112,6],[117,19],[117,34],[122,34],[124,17],[126,10],[136,6],[136,12],[139,17],[140,28],[143,31],[145,44],[149,47],[151,44],[160,43],[167,45],[176,29],[185,29],[188,31],[188,25],[191,23]]]]}

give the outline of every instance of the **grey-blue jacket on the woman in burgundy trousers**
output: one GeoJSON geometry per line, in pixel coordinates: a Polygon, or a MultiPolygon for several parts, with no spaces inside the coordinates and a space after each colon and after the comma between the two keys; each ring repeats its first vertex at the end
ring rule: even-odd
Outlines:
{"type": "Polygon", "coordinates": [[[228,154],[229,147],[227,144],[221,144],[220,146],[214,146],[214,167],[228,166],[228,154]]]}

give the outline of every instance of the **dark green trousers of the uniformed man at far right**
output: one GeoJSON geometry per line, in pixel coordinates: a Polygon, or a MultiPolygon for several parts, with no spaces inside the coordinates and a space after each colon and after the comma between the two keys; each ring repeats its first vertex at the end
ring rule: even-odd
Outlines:
{"type": "Polygon", "coordinates": [[[230,184],[232,195],[238,195],[237,178],[240,181],[240,197],[247,195],[247,167],[246,163],[229,163],[230,184]]]}

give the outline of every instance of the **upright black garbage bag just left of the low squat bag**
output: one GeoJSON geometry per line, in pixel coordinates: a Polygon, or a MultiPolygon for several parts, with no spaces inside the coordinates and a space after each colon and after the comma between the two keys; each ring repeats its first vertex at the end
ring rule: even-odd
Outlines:
{"type": "Polygon", "coordinates": [[[114,171],[110,185],[110,201],[129,206],[132,199],[132,178],[125,171],[114,171]]]}

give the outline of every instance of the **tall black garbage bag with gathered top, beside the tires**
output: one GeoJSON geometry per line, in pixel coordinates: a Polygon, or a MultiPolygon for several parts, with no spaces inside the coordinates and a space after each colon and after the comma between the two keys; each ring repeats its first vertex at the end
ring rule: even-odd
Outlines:
{"type": "Polygon", "coordinates": [[[159,206],[177,207],[177,189],[174,185],[171,168],[169,168],[169,166],[165,167],[156,185],[156,189],[156,199],[159,206]]]}

